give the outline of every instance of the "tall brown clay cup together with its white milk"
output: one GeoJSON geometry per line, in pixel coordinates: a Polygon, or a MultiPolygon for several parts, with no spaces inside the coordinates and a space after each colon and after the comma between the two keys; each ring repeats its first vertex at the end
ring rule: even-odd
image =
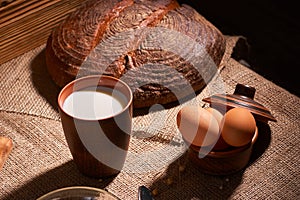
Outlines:
{"type": "Polygon", "coordinates": [[[118,174],[132,130],[132,91],[104,75],[75,79],[59,93],[58,108],[73,160],[84,175],[118,174]]]}

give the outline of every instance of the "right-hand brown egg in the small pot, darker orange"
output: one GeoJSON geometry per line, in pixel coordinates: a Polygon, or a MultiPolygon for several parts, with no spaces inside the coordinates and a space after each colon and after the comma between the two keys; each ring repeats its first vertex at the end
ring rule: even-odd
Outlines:
{"type": "Polygon", "coordinates": [[[221,124],[224,141],[235,147],[250,143],[256,129],[253,115],[245,108],[232,108],[225,113],[221,124]]]}

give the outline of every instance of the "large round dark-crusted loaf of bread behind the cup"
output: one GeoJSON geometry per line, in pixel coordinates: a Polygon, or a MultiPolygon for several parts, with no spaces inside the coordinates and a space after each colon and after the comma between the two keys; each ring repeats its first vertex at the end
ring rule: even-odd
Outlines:
{"type": "Polygon", "coordinates": [[[175,0],[87,0],[52,31],[46,63],[61,87],[92,74],[122,79],[141,108],[203,89],[224,52],[222,33],[175,0]]]}

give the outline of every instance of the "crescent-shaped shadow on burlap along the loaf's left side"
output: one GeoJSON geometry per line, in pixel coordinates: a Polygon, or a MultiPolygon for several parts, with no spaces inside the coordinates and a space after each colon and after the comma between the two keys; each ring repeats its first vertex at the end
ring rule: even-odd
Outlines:
{"type": "Polygon", "coordinates": [[[39,94],[43,96],[56,111],[58,111],[57,96],[61,88],[52,81],[51,76],[47,71],[45,49],[33,59],[31,63],[31,77],[33,85],[39,94]]]}

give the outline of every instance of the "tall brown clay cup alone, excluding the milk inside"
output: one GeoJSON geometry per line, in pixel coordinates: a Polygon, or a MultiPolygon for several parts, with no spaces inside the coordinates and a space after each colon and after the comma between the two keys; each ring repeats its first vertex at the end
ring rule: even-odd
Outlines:
{"type": "Polygon", "coordinates": [[[122,81],[109,76],[87,76],[67,84],[58,96],[58,108],[69,149],[79,171],[101,178],[116,175],[125,162],[132,126],[132,92],[122,81]],[[120,91],[125,98],[123,110],[103,119],[82,119],[63,109],[65,99],[74,91],[103,86],[120,91]]]}

